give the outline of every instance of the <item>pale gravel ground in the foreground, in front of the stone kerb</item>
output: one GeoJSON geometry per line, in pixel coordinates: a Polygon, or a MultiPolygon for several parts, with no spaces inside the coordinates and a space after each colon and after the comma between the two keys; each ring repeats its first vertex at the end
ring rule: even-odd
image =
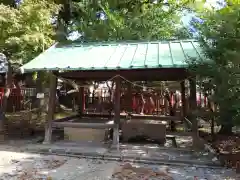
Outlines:
{"type": "MultiPolygon", "coordinates": [[[[0,180],[113,180],[113,172],[123,164],[10,151],[0,151],[0,153],[0,180]]],[[[143,164],[133,164],[133,166],[152,170],[168,169],[169,175],[174,180],[194,180],[194,176],[197,180],[230,180],[230,177],[232,180],[240,179],[233,171],[227,169],[143,164]]]]}

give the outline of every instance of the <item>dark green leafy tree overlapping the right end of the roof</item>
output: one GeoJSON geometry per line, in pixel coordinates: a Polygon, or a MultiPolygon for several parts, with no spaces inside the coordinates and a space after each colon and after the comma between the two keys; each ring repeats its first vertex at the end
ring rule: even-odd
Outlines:
{"type": "Polygon", "coordinates": [[[192,70],[218,105],[219,123],[240,124],[240,5],[205,12],[203,18],[198,28],[206,58],[194,61],[192,70]]]}

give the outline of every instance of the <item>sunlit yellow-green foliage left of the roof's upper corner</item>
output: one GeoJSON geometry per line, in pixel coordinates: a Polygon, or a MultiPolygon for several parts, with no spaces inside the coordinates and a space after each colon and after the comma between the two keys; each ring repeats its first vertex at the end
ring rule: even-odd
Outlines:
{"type": "Polygon", "coordinates": [[[0,52],[13,64],[34,58],[53,43],[56,12],[58,6],[46,0],[24,0],[17,8],[0,4],[0,52]]]}

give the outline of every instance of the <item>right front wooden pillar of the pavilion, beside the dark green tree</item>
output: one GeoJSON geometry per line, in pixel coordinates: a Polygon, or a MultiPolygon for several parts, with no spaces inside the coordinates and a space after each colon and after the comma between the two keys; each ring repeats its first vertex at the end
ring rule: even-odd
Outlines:
{"type": "Polygon", "coordinates": [[[199,145],[199,136],[198,136],[198,122],[196,118],[196,109],[197,109],[197,97],[196,97],[196,79],[189,79],[190,85],[190,97],[189,97],[189,108],[190,108],[190,119],[192,122],[192,139],[193,139],[193,148],[198,148],[199,145]]]}

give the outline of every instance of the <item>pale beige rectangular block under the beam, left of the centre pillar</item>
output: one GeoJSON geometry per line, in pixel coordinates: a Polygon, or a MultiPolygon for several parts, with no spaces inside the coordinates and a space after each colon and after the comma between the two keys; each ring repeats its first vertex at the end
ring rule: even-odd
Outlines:
{"type": "Polygon", "coordinates": [[[91,128],[64,128],[64,139],[70,141],[102,142],[105,138],[105,129],[91,128]]]}

